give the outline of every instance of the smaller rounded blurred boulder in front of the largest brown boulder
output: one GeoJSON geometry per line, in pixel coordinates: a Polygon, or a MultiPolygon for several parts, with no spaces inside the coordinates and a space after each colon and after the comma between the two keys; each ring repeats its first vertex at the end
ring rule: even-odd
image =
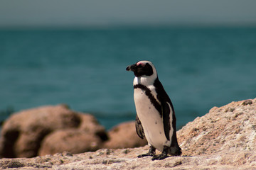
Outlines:
{"type": "Polygon", "coordinates": [[[100,149],[102,140],[92,132],[83,130],[56,130],[47,135],[42,142],[39,156],[61,153],[63,151],[78,154],[100,149]]]}

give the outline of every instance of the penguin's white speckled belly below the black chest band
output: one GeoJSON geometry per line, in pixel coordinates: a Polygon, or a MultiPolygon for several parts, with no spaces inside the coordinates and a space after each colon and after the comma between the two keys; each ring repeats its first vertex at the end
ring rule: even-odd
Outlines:
{"type": "MultiPolygon", "coordinates": [[[[156,99],[156,91],[151,89],[151,94],[156,99]]],[[[159,101],[156,99],[159,103],[159,101]]],[[[143,89],[134,89],[134,102],[139,120],[142,123],[146,140],[150,145],[162,151],[164,146],[171,145],[164,134],[164,123],[161,114],[143,89]]],[[[160,103],[159,103],[160,104],[160,103]]]]}

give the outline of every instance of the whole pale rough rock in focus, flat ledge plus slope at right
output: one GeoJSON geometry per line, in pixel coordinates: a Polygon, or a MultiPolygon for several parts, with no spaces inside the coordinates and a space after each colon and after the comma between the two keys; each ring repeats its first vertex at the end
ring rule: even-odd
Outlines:
{"type": "Polygon", "coordinates": [[[210,109],[177,132],[181,157],[137,158],[148,147],[0,159],[1,169],[256,169],[256,98],[210,109]]]}

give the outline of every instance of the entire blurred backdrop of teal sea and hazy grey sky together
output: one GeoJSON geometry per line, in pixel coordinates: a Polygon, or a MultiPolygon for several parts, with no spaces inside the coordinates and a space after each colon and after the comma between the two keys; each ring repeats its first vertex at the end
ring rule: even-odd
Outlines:
{"type": "Polygon", "coordinates": [[[256,97],[256,1],[0,1],[0,121],[66,103],[135,119],[129,64],[154,63],[177,128],[256,97]]]}

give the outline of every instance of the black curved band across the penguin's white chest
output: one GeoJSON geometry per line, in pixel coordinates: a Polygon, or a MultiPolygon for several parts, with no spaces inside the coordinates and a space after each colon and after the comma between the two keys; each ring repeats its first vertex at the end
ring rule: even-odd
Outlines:
{"type": "Polygon", "coordinates": [[[154,108],[156,108],[156,111],[158,111],[162,117],[161,105],[156,101],[156,98],[154,98],[153,94],[151,94],[150,89],[142,84],[134,85],[134,89],[142,89],[142,91],[145,91],[145,94],[146,94],[146,96],[148,96],[149,101],[154,106],[154,108]]]}

